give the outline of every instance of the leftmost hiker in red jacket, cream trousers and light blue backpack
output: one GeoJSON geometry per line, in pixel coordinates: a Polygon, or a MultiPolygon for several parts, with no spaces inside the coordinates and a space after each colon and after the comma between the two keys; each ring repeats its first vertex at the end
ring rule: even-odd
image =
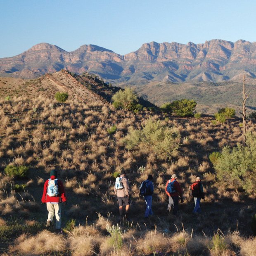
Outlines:
{"type": "Polygon", "coordinates": [[[50,172],[50,179],[45,181],[41,201],[43,204],[46,203],[48,211],[46,227],[50,227],[50,225],[52,224],[53,217],[55,216],[55,228],[56,230],[60,230],[60,218],[62,210],[61,203],[64,203],[66,205],[66,196],[62,182],[59,179],[57,179],[57,170],[52,170],[50,172]]]}

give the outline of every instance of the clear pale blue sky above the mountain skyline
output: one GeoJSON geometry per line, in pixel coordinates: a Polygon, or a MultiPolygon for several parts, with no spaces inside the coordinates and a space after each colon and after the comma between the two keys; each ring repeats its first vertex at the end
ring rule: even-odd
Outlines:
{"type": "Polygon", "coordinates": [[[122,55],[152,41],[254,42],[255,10],[255,0],[0,0],[0,58],[43,42],[122,55]]]}

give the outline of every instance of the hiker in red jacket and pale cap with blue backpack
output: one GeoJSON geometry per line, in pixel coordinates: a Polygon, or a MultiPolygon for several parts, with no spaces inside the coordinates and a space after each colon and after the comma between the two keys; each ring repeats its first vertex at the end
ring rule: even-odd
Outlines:
{"type": "Polygon", "coordinates": [[[171,176],[171,180],[166,182],[165,192],[169,197],[168,209],[173,205],[173,214],[177,215],[179,210],[179,196],[180,202],[183,203],[182,190],[180,183],[176,180],[178,177],[176,174],[171,176]],[[168,185],[170,183],[170,185],[168,185]]]}

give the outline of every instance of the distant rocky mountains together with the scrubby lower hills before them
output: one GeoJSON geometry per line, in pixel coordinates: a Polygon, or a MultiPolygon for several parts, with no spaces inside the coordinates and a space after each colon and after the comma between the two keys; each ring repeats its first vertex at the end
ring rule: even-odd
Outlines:
{"type": "Polygon", "coordinates": [[[229,104],[241,105],[242,73],[250,90],[248,104],[255,109],[256,42],[210,40],[203,44],[145,43],[135,52],[119,55],[97,45],[67,52],[40,43],[20,55],[0,59],[0,76],[38,78],[67,69],[94,73],[113,85],[132,86],[154,104],[188,97],[199,111],[213,113],[229,104]]]}

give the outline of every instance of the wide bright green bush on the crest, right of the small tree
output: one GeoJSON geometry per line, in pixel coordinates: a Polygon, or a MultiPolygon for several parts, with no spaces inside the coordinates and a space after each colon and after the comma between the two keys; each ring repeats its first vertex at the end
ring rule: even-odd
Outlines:
{"type": "Polygon", "coordinates": [[[175,100],[171,103],[171,109],[176,116],[193,116],[197,106],[194,100],[175,100]]]}

